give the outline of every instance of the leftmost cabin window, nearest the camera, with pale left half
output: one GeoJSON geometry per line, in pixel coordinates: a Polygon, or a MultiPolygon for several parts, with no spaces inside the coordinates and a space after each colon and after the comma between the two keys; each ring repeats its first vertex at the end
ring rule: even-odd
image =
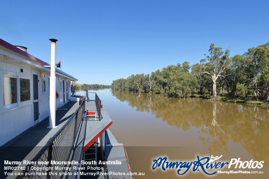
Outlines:
{"type": "Polygon", "coordinates": [[[17,78],[4,77],[4,105],[17,103],[17,78]]]}

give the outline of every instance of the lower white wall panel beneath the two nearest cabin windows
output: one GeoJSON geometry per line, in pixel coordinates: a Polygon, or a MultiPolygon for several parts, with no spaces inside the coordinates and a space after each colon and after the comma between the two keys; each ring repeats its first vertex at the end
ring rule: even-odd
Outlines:
{"type": "Polygon", "coordinates": [[[0,146],[32,126],[32,104],[0,114],[0,146]]]}

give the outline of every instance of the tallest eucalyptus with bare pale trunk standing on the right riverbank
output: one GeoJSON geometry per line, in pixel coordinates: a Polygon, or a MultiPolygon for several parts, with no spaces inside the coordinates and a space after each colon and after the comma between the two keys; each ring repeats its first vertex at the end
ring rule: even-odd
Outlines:
{"type": "Polygon", "coordinates": [[[217,98],[217,80],[219,77],[224,77],[222,74],[228,67],[232,65],[229,58],[229,49],[225,52],[222,51],[222,47],[215,47],[215,43],[211,43],[209,46],[209,56],[206,56],[208,62],[205,64],[204,74],[208,74],[212,78],[213,82],[213,96],[212,100],[217,98]]]}

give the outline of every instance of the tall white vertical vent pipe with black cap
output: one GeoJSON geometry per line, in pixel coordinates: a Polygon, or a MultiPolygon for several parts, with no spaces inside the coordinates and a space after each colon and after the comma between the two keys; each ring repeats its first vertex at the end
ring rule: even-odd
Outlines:
{"type": "Polygon", "coordinates": [[[49,126],[48,128],[55,128],[56,120],[56,39],[49,39],[51,41],[51,52],[50,52],[50,78],[49,78],[49,126]]]}

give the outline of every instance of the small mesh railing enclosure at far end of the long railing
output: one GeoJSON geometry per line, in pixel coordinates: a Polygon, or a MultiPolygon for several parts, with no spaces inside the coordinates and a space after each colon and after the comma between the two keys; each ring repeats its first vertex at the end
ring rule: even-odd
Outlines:
{"type": "Polygon", "coordinates": [[[102,119],[101,108],[102,101],[95,92],[88,92],[86,90],[85,110],[90,112],[92,115],[87,117],[88,119],[102,119]],[[93,100],[94,99],[94,100],[93,100]],[[95,114],[95,115],[94,115],[95,114]]]}

